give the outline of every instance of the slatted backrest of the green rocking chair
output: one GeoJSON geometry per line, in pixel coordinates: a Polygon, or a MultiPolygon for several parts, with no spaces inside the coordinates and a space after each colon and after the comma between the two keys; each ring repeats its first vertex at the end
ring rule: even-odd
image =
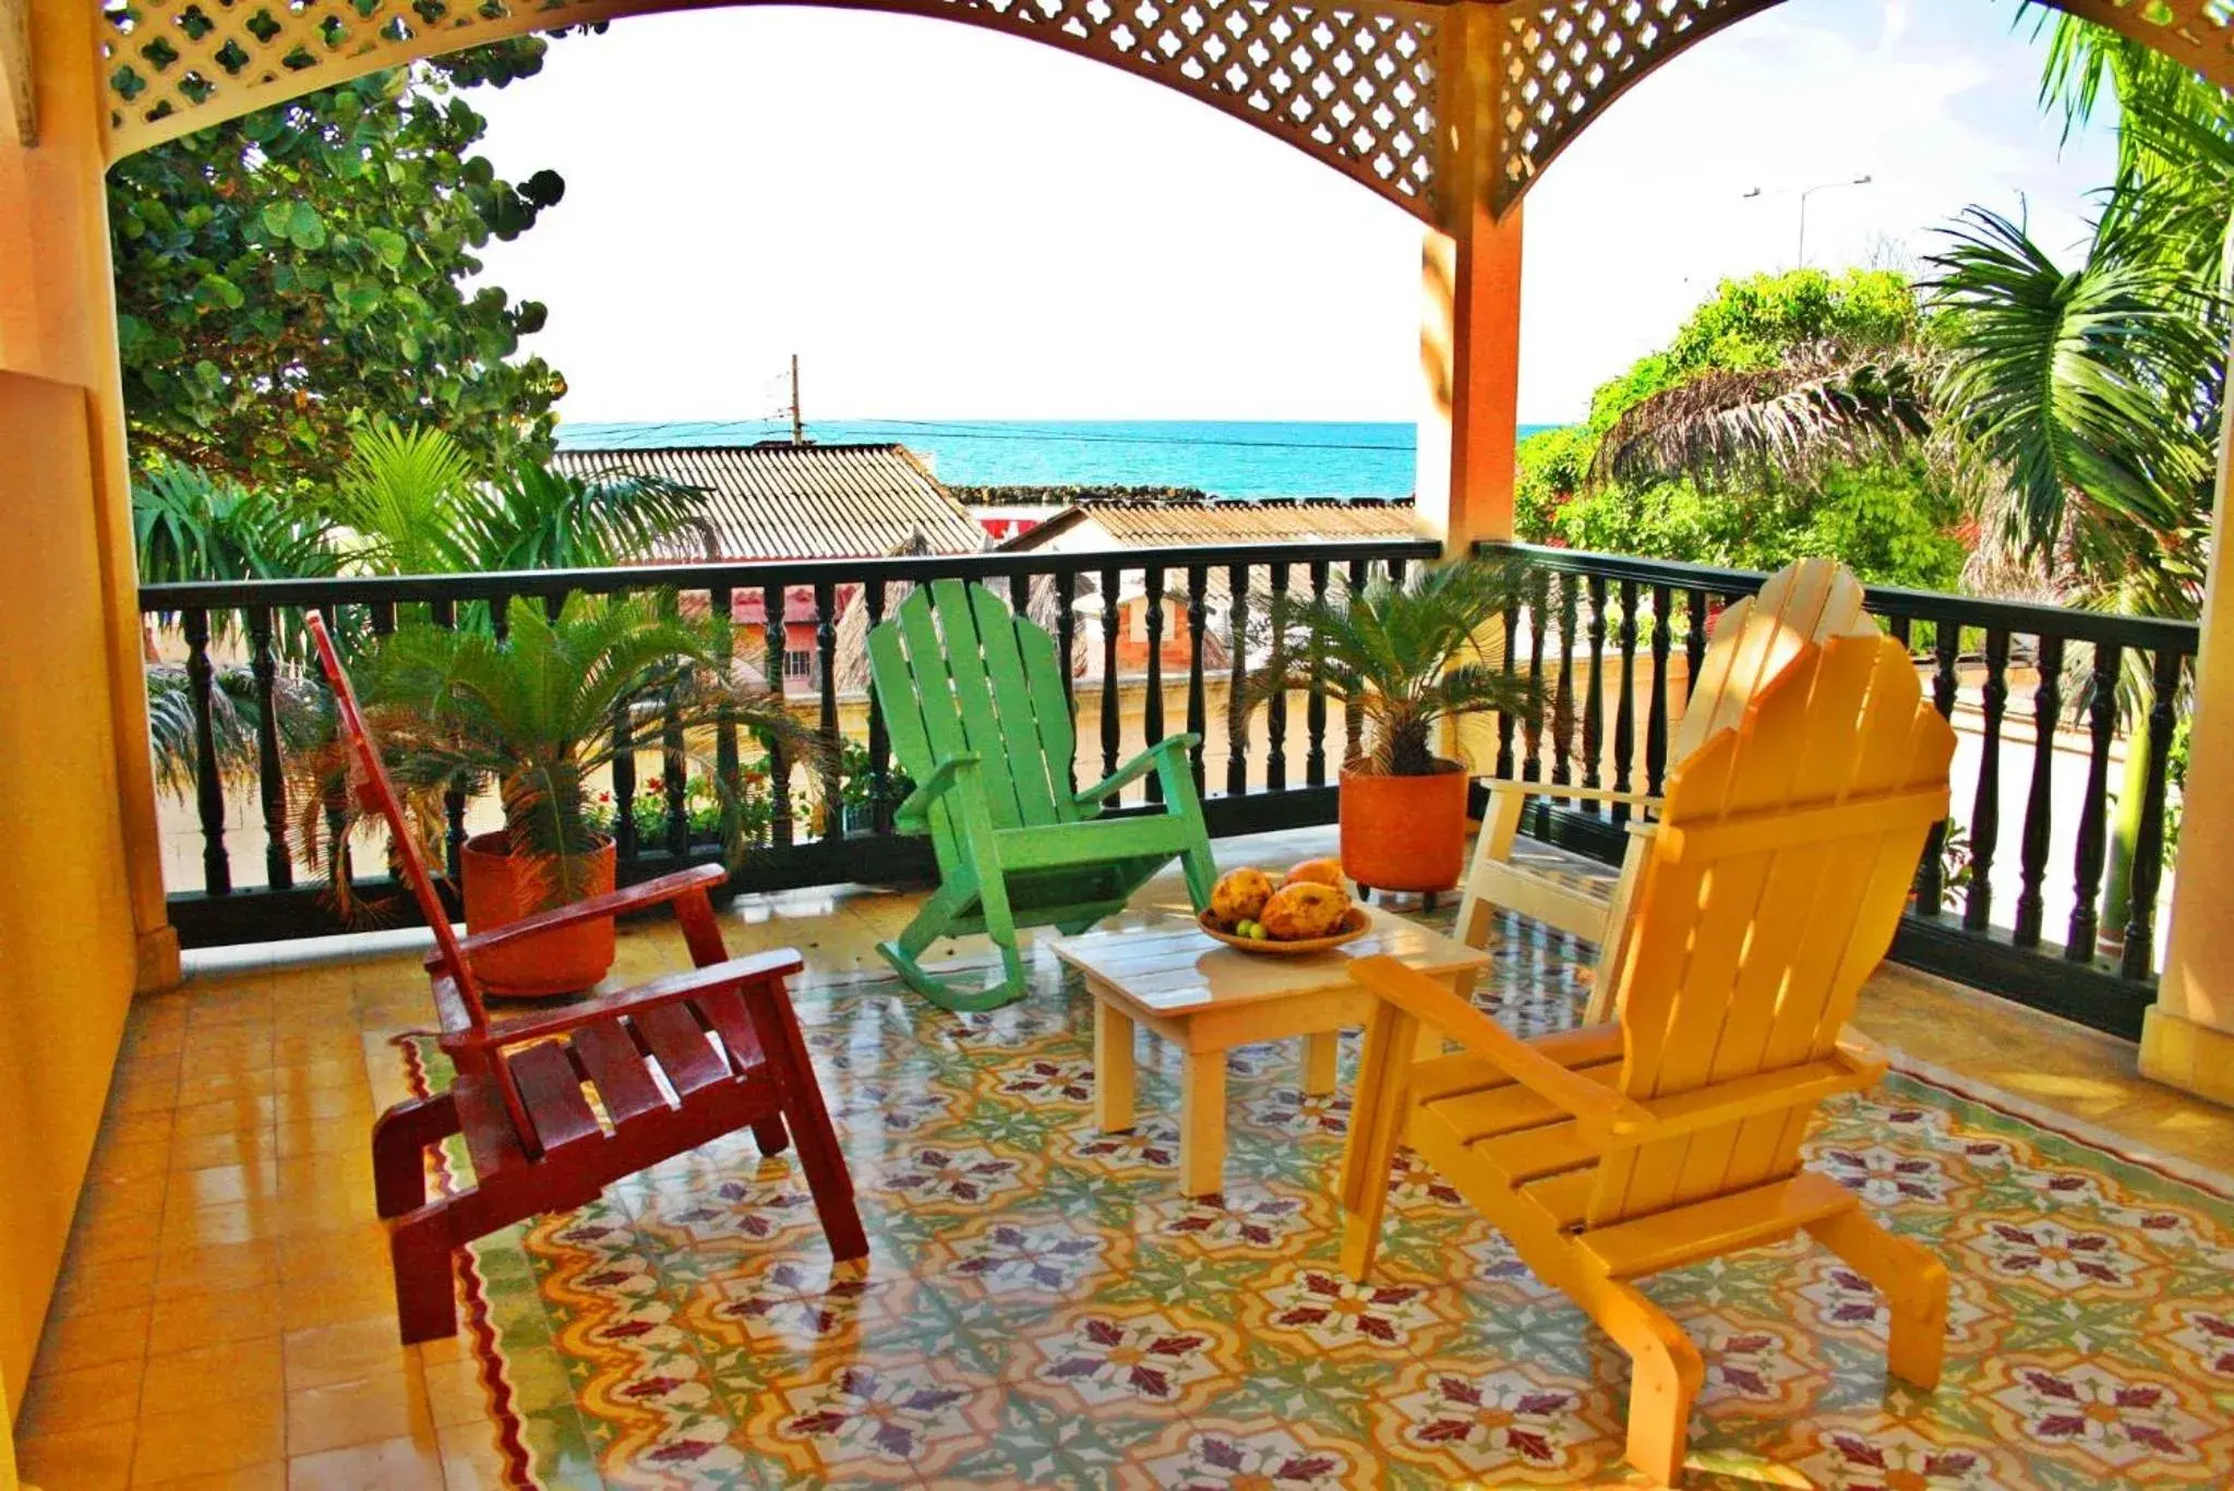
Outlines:
{"type": "MultiPolygon", "coordinates": [[[[903,771],[923,780],[938,758],[974,751],[994,827],[1077,820],[1077,735],[1054,642],[992,590],[918,586],[869,633],[869,677],[903,771]]],[[[943,805],[932,807],[932,838],[945,867],[943,805]]]]}

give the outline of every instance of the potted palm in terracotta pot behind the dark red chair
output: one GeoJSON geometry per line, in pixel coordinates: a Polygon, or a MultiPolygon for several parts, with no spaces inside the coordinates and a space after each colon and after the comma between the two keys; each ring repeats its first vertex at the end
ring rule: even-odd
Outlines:
{"type": "MultiPolygon", "coordinates": [[[[442,794],[456,782],[494,785],[503,803],[505,827],[465,843],[467,932],[612,890],[612,838],[594,827],[592,798],[614,758],[614,722],[630,713],[643,715],[632,740],[657,735],[655,720],[679,720],[686,753],[728,718],[798,760],[820,760],[820,740],[782,700],[733,673],[722,630],[715,617],[679,615],[672,597],[576,595],[556,619],[514,599],[505,637],[416,621],[369,650],[357,664],[366,718],[424,841],[440,838],[442,794]]],[[[297,773],[304,858],[331,876],[346,910],[346,753],[308,751],[297,773]]],[[[704,776],[726,791],[710,765],[704,776]]],[[[612,950],[612,921],[592,921],[483,955],[474,970],[498,995],[572,993],[605,977],[612,950]]]]}

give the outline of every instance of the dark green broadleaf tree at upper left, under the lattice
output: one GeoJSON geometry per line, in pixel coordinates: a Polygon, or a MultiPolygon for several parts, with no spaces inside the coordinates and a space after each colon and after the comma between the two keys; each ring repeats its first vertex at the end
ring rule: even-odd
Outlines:
{"type": "Polygon", "coordinates": [[[514,360],[543,306],[467,293],[489,235],[565,183],[471,154],[458,89],[543,65],[541,38],[382,72],[156,145],[109,172],[132,447],[290,492],[380,418],[489,465],[550,447],[563,380],[514,360]]]}

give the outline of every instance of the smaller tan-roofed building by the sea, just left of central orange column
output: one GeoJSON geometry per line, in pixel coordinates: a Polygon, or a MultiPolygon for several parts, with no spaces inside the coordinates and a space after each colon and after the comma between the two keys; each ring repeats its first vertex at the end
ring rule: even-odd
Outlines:
{"type": "MultiPolygon", "coordinates": [[[[1097,554],[1121,550],[1235,545],[1235,543],[1354,543],[1361,539],[1416,539],[1419,514],[1412,503],[1311,503],[1311,501],[1088,501],[1028,528],[1001,543],[1001,552],[1097,554]]],[[[1231,592],[1226,566],[1211,566],[1204,577],[1204,653],[1222,662],[1231,657],[1231,592]]],[[[1309,581],[1298,574],[1296,588],[1309,581]]],[[[1117,579],[1117,673],[1130,675],[1148,666],[1148,581],[1142,570],[1124,570],[1117,579]]],[[[1251,595],[1262,606],[1269,581],[1251,577],[1251,595]]],[[[1101,577],[1079,574],[1075,610],[1088,626],[1101,626],[1101,577]]],[[[1191,650],[1186,621],[1186,572],[1164,574],[1164,668],[1184,673],[1191,650]]],[[[1101,646],[1079,646],[1079,671],[1099,675],[1101,646]]]]}

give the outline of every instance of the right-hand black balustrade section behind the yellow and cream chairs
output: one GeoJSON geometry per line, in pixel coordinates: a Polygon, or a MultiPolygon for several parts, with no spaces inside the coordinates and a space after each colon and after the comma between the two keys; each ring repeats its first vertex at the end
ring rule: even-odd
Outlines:
{"type": "MultiPolygon", "coordinates": [[[[1477,548],[1528,563],[1526,604],[1506,617],[1506,635],[1521,644],[1506,666],[1541,680],[1546,695],[1539,720],[1499,720],[1497,773],[1658,794],[1669,769],[1671,711],[1689,697],[1707,624],[1765,577],[1517,543],[1477,548]]],[[[2138,1037],[2154,999],[2167,765],[2196,626],[1892,586],[1870,586],[1868,610],[1910,648],[1928,671],[1939,713],[1968,735],[1957,749],[1950,818],[1968,834],[1968,863],[1946,854],[1950,825],[1932,829],[1894,957],[2138,1037]],[[2028,756],[2022,742],[2008,742],[2013,673],[2031,677],[2020,715],[2033,735],[2028,756]],[[2120,923],[2104,928],[2104,872],[2125,778],[2113,769],[2113,749],[2131,738],[2120,680],[2149,729],[2127,905],[2120,923]],[[2062,773],[2060,733],[2069,758],[2062,773]],[[2004,753],[2015,753],[2020,767],[2008,778],[2004,753]],[[2011,861],[2017,874],[1997,874],[2011,861]],[[2051,890],[2064,912],[2053,930],[2051,890]]],[[[1544,803],[1530,827],[1611,861],[1626,838],[1624,818],[1624,807],[1544,803]]]]}

